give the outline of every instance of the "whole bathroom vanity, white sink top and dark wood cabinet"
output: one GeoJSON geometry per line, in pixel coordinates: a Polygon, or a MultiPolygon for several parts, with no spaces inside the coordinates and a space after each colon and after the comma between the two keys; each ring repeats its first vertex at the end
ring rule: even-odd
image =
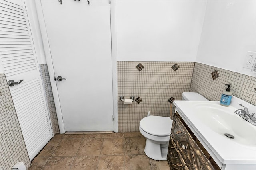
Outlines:
{"type": "Polygon", "coordinates": [[[216,101],[174,101],[167,160],[178,170],[255,170],[256,126],[234,113],[239,104],[256,106],[236,97],[232,106],[216,101]],[[229,138],[224,134],[234,135],[229,138]]]}

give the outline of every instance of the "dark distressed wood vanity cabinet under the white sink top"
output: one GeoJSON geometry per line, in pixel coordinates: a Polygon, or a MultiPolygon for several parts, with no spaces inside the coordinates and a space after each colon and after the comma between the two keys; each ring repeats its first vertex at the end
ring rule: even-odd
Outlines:
{"type": "Polygon", "coordinates": [[[202,148],[196,136],[176,112],[173,117],[167,155],[167,161],[171,170],[220,169],[216,165],[214,167],[212,166],[215,162],[213,160],[210,161],[211,157],[208,152],[204,148],[200,149],[197,143],[202,148]]]}

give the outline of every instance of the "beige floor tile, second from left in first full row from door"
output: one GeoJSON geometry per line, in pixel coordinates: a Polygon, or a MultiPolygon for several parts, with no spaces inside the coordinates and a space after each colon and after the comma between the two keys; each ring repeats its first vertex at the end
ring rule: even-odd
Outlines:
{"type": "Polygon", "coordinates": [[[76,156],[82,139],[62,139],[52,156],[76,156]]]}

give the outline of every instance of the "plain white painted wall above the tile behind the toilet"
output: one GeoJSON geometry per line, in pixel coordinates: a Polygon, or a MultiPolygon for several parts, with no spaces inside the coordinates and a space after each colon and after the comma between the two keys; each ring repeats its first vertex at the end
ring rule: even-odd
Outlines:
{"type": "Polygon", "coordinates": [[[195,61],[206,1],[116,1],[118,61],[195,61]]]}

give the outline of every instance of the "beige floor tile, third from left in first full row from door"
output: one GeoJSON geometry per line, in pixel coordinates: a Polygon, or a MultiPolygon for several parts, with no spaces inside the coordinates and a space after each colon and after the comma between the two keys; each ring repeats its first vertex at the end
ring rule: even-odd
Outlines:
{"type": "Polygon", "coordinates": [[[77,156],[100,156],[102,149],[102,139],[83,139],[77,156]]]}

